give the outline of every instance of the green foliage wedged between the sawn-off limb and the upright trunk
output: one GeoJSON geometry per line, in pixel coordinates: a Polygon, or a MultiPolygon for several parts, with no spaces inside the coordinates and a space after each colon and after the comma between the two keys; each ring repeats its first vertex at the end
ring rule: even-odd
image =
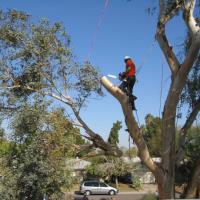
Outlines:
{"type": "Polygon", "coordinates": [[[141,127],[141,132],[144,135],[144,139],[147,142],[147,146],[151,155],[160,156],[162,133],[161,119],[148,114],[145,117],[145,125],[141,127]]]}

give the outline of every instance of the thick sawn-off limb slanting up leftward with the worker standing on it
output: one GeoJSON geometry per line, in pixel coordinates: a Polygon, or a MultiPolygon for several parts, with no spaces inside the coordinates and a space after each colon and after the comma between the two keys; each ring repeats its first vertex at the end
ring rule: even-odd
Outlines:
{"type": "Polygon", "coordinates": [[[105,76],[101,78],[101,82],[108,92],[110,92],[110,94],[112,94],[120,102],[129,134],[138,147],[140,159],[155,175],[156,181],[159,185],[158,190],[160,197],[162,199],[170,198],[172,195],[171,193],[169,195],[169,192],[166,192],[165,187],[168,187],[168,181],[173,182],[174,179],[171,180],[170,177],[168,179],[164,179],[164,171],[150,157],[148,147],[134,118],[131,106],[129,105],[128,97],[117,86],[113,85],[105,76]],[[166,181],[164,182],[164,180],[166,181]]]}

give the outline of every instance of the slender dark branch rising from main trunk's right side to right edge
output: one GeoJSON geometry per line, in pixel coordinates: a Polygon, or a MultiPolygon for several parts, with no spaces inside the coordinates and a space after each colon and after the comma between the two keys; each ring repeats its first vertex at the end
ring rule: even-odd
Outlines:
{"type": "Polygon", "coordinates": [[[184,126],[180,131],[180,139],[179,139],[179,149],[176,153],[176,164],[179,165],[180,161],[184,157],[184,150],[185,150],[185,138],[188,133],[188,129],[192,126],[194,120],[196,119],[198,113],[200,111],[200,99],[198,99],[196,105],[194,106],[192,112],[190,113],[189,117],[187,118],[184,126]]]}

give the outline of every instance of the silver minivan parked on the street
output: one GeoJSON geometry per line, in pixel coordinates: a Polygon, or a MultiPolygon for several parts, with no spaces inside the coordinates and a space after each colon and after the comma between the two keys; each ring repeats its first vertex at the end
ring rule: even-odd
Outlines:
{"type": "Polygon", "coordinates": [[[83,181],[80,186],[81,194],[110,194],[115,195],[118,190],[114,187],[107,185],[106,183],[99,181],[83,181]]]}

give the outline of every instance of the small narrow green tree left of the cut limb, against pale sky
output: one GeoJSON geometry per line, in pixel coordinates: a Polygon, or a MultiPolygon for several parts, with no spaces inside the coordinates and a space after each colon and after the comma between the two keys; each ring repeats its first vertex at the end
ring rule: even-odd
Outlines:
{"type": "Polygon", "coordinates": [[[119,130],[122,128],[122,123],[120,121],[116,121],[113,123],[113,127],[110,130],[110,135],[108,138],[108,142],[117,147],[119,143],[119,130]]]}

